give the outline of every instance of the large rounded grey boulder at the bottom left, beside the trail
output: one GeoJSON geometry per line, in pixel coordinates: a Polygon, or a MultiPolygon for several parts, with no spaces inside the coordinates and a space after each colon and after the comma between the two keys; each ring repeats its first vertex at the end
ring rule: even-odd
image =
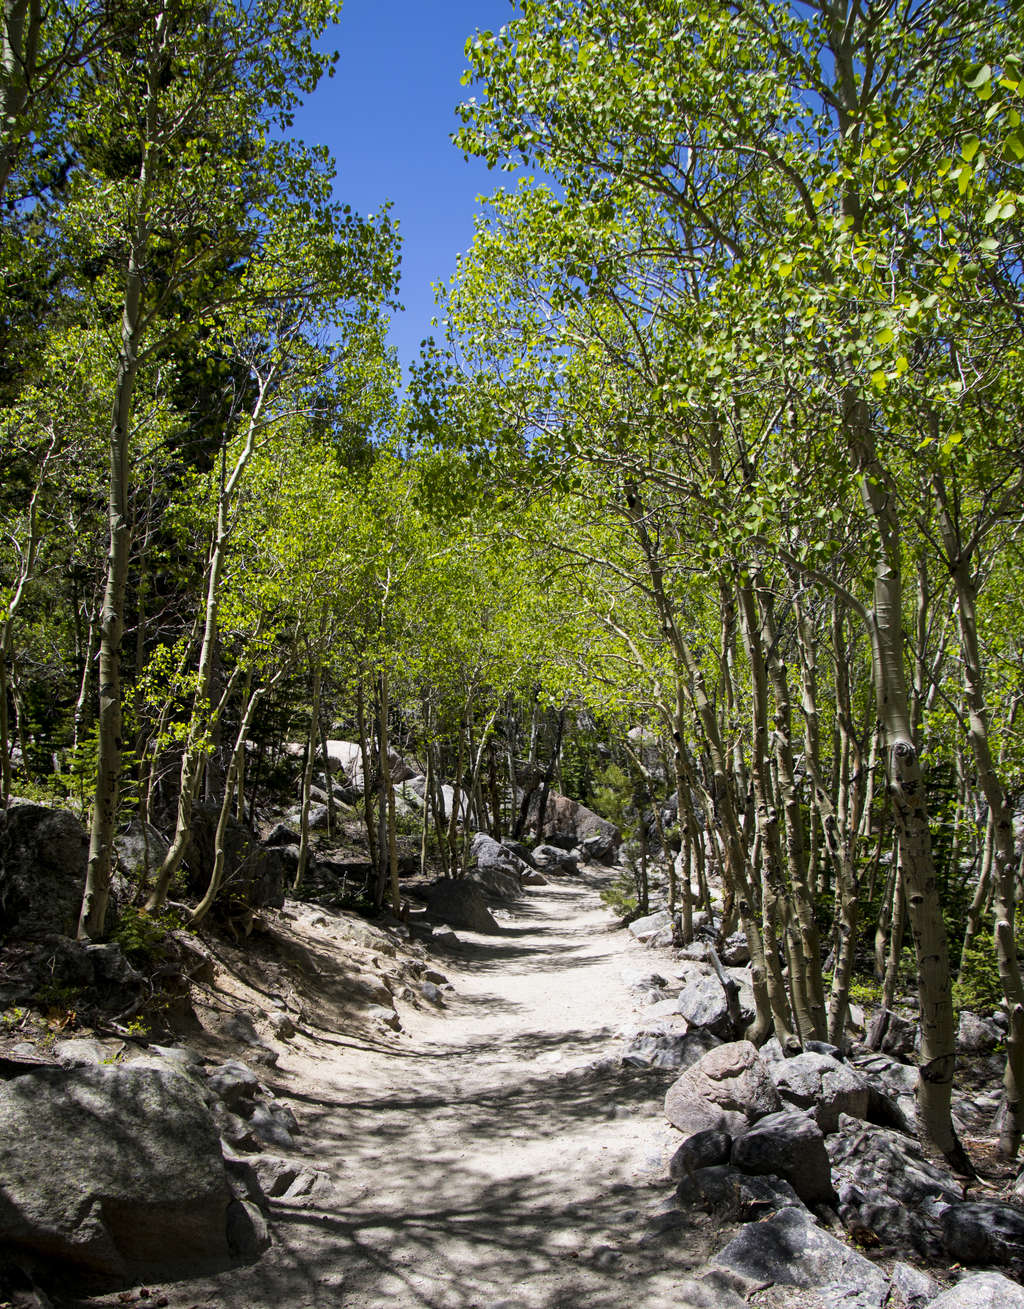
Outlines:
{"type": "Polygon", "coordinates": [[[0,1085],[0,1242],[101,1279],[227,1259],[232,1200],[198,1088],[127,1066],[0,1085]]]}

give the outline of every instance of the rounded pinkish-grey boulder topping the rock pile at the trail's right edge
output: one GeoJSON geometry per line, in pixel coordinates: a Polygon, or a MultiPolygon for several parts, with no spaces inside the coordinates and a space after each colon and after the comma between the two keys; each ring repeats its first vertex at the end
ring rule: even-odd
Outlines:
{"type": "Polygon", "coordinates": [[[779,1093],[749,1041],[711,1050],[665,1096],[665,1117],[687,1136],[707,1130],[739,1135],[748,1123],[780,1109],[779,1093]]]}

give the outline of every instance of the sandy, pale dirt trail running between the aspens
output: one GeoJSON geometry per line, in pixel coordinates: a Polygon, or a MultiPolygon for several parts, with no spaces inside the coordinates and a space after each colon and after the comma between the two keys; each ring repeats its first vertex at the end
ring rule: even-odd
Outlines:
{"type": "Polygon", "coordinates": [[[278,1089],[335,1195],[274,1202],[257,1264],[169,1288],[170,1304],[685,1305],[680,1282],[714,1233],[649,1232],[670,1194],[670,1075],[610,1058],[635,1012],[623,969],[651,956],[613,929],[598,885],[534,889],[499,937],[460,932],[439,965],[456,987],[445,1011],[410,1013],[390,1052],[289,1050],[278,1089]]]}

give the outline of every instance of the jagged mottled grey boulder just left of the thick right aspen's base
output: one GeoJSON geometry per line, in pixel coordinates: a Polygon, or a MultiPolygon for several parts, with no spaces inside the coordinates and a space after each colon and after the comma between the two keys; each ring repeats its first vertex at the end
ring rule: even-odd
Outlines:
{"type": "Polygon", "coordinates": [[[883,1245],[938,1257],[942,1215],[962,1199],[952,1173],[924,1157],[910,1136],[841,1117],[828,1140],[839,1216],[883,1245]]]}

